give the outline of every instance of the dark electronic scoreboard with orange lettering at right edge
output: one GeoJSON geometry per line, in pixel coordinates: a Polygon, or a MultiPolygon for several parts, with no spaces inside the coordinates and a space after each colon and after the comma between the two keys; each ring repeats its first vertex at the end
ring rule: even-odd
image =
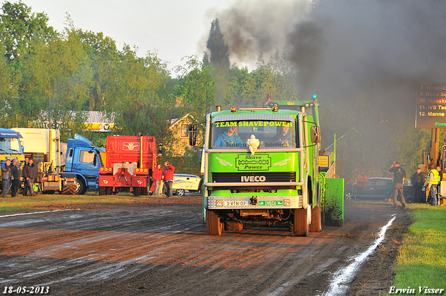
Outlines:
{"type": "Polygon", "coordinates": [[[415,127],[446,128],[446,84],[420,85],[415,127]]]}

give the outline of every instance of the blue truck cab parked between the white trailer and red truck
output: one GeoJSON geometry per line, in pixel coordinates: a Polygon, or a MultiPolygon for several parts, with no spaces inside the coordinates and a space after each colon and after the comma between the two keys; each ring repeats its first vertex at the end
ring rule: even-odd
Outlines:
{"type": "Polygon", "coordinates": [[[104,166],[100,149],[93,143],[75,134],[68,139],[65,171],[76,174],[76,194],[84,194],[87,189],[98,189],[99,168],[104,166]]]}

